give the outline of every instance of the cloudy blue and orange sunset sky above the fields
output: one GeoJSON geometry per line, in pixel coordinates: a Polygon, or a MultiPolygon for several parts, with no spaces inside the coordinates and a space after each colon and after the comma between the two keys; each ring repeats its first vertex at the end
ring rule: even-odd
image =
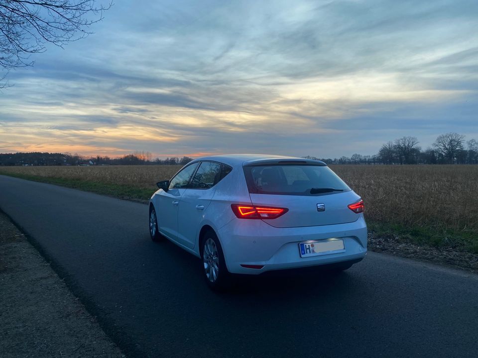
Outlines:
{"type": "Polygon", "coordinates": [[[478,1],[115,0],[0,92],[0,153],[372,155],[478,140],[478,1]]]}

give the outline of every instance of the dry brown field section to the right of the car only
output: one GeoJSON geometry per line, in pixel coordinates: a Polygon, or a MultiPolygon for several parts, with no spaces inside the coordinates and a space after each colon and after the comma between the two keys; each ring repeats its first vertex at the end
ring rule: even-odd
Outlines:
{"type": "Polygon", "coordinates": [[[365,201],[366,218],[478,231],[478,166],[334,166],[365,201]]]}

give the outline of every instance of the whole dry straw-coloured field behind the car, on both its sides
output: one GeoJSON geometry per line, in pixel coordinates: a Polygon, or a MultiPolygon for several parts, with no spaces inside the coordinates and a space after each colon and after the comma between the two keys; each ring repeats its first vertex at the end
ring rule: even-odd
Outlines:
{"type": "MultiPolygon", "coordinates": [[[[0,174],[147,199],[179,166],[0,167],[0,174]],[[74,184],[72,184],[74,183],[74,184]]],[[[478,166],[333,166],[365,201],[367,222],[468,235],[478,251],[478,166]]],[[[413,233],[412,233],[413,235],[413,233]]],[[[442,240],[442,239],[440,239],[442,240]]],[[[443,239],[446,240],[446,239],[443,239]]]]}

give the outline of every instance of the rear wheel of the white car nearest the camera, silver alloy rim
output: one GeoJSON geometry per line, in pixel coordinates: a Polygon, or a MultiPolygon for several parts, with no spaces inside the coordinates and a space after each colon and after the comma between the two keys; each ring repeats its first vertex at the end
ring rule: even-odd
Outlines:
{"type": "Polygon", "coordinates": [[[201,264],[207,285],[214,291],[223,291],[231,283],[223,249],[216,233],[208,230],[201,240],[201,264]]]}

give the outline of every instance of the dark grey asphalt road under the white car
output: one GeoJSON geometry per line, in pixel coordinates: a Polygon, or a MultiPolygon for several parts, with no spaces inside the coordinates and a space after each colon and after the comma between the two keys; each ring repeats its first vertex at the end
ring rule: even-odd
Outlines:
{"type": "Polygon", "coordinates": [[[144,204],[0,176],[0,208],[128,357],[478,356],[478,275],[368,253],[216,294],[144,204]]]}

